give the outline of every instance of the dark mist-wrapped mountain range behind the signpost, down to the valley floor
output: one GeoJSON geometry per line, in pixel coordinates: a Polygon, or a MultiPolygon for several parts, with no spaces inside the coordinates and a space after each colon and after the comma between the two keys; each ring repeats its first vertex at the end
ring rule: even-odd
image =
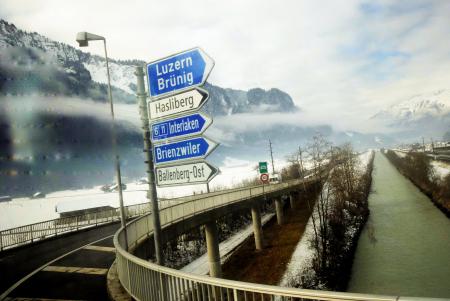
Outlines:
{"type": "MultiPolygon", "coordinates": [[[[110,61],[122,174],[129,179],[145,174],[134,96],[134,66],[143,64],[110,61]]],[[[106,102],[105,70],[100,56],[0,19],[0,173],[16,175],[0,181],[2,194],[27,195],[111,180],[110,116],[100,103],[106,102]]],[[[216,117],[207,135],[221,143],[208,160],[218,166],[230,157],[266,160],[269,138],[278,158],[305,146],[317,133],[335,144],[351,141],[358,150],[392,143],[385,135],[286,123],[283,116],[299,108],[289,94],[276,88],[243,91],[209,83],[204,88],[210,100],[202,110],[216,117]],[[279,122],[267,121],[272,113],[279,122]],[[249,119],[257,126],[250,126],[249,119]]]]}

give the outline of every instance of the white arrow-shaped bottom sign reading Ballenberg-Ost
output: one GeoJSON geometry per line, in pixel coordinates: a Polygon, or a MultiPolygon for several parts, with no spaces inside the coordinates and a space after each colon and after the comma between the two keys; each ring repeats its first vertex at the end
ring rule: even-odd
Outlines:
{"type": "Polygon", "coordinates": [[[157,167],[158,186],[208,183],[218,173],[218,169],[207,162],[157,167]]]}

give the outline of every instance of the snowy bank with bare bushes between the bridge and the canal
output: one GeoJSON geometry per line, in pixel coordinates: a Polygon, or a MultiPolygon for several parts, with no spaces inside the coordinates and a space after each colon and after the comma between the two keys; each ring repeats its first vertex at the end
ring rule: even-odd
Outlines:
{"type": "Polygon", "coordinates": [[[279,285],[346,289],[358,238],[369,215],[373,152],[356,158],[352,155],[347,160],[331,171],[321,193],[322,204],[318,200],[279,285]],[[326,253],[317,243],[317,235],[326,235],[326,253]],[[320,260],[326,265],[318,266],[320,260]]]}

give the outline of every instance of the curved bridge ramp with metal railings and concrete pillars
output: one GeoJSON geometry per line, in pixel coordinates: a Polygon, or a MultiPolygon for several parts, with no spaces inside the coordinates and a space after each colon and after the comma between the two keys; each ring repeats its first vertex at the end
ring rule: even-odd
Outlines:
{"type": "MultiPolygon", "coordinates": [[[[118,229],[118,212],[113,211],[97,214],[95,217],[72,218],[70,222],[54,220],[25,226],[19,230],[8,230],[9,235],[3,231],[2,237],[8,237],[5,241],[9,244],[6,247],[4,245],[3,248],[11,248],[11,242],[14,240],[16,246],[27,244],[16,249],[6,250],[10,254],[22,253],[25,265],[27,261],[36,260],[36,258],[26,258],[26,254],[30,254],[29,248],[47,245],[44,249],[49,250],[52,247],[48,247],[48,245],[61,247],[67,243],[73,245],[73,249],[65,250],[67,252],[65,254],[55,255],[55,258],[33,268],[31,272],[28,271],[26,275],[22,275],[22,278],[16,279],[16,282],[0,295],[0,300],[105,299],[105,288],[102,288],[101,285],[104,285],[106,281],[94,280],[96,279],[94,276],[102,275],[105,278],[107,267],[114,260],[116,264],[114,268],[110,269],[110,273],[117,274],[120,286],[135,300],[410,300],[410,298],[400,296],[305,290],[220,278],[220,254],[215,221],[229,212],[250,210],[255,248],[263,248],[259,207],[261,202],[273,200],[277,222],[281,224],[283,223],[284,200],[289,199],[291,205],[294,205],[296,194],[305,185],[310,185],[318,180],[311,177],[268,186],[253,186],[191,196],[173,200],[162,208],[160,219],[163,242],[170,241],[192,228],[204,225],[210,276],[187,273],[146,260],[153,252],[152,214],[146,204],[129,207],[127,209],[129,216],[138,217],[130,220],[126,227],[121,229],[118,229]],[[101,224],[103,226],[100,226],[101,224]],[[76,231],[77,226],[78,230],[82,230],[83,227],[85,229],[81,232],[76,231]],[[76,231],[75,234],[61,236],[64,227],[66,232],[76,231]],[[112,239],[111,233],[113,232],[115,234],[112,239]],[[16,238],[13,239],[12,233],[21,235],[15,235],[16,238]],[[55,239],[58,235],[60,238],[55,239]],[[90,236],[90,238],[87,239],[86,236],[90,236]],[[18,237],[23,238],[21,242],[18,237]],[[36,244],[36,240],[40,243],[36,244]],[[59,240],[61,241],[58,243],[59,240]],[[73,244],[74,240],[78,241],[78,245],[73,244]],[[77,268],[80,261],[81,263],[90,262],[93,265],[100,264],[101,267],[89,267],[80,272],[81,268],[77,268]],[[59,276],[62,273],[58,272],[63,271],[73,275],[78,274],[69,279],[59,276]],[[37,277],[39,273],[47,273],[47,275],[53,273],[54,277],[41,276],[40,280],[34,280],[34,285],[27,285],[27,283],[33,283],[34,278],[39,278],[37,277]],[[79,274],[89,276],[81,277],[79,274]],[[68,286],[63,283],[65,279],[75,281],[75,283],[68,286]],[[103,291],[100,292],[101,290],[103,291]],[[46,296],[39,295],[44,291],[46,296]],[[90,298],[83,297],[83,291],[90,294],[90,298]],[[31,296],[33,293],[36,295],[31,296]],[[28,295],[24,296],[23,294],[28,295]]],[[[1,260],[0,264],[2,264],[1,260]]],[[[16,262],[16,264],[20,266],[21,263],[16,262]]],[[[13,272],[11,265],[10,269],[13,272]]]]}

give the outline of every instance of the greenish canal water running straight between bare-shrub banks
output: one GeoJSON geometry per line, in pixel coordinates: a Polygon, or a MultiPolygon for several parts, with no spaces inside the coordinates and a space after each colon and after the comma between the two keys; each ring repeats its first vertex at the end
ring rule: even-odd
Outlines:
{"type": "Polygon", "coordinates": [[[382,154],[348,291],[450,297],[450,220],[382,154]]]}

